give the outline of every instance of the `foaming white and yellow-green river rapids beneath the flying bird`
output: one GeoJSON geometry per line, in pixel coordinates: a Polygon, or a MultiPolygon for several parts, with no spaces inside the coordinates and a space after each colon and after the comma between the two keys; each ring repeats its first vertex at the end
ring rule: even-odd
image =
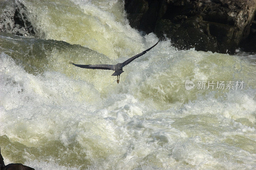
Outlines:
{"type": "Polygon", "coordinates": [[[35,169],[255,169],[255,55],[179,51],[121,0],[0,0],[0,147],[35,169]],[[186,83],[185,83],[186,82],[186,83]]]}

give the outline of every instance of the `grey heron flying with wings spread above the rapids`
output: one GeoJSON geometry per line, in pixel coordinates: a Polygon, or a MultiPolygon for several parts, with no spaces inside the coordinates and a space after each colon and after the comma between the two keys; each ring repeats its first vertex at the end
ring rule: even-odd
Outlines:
{"type": "MultiPolygon", "coordinates": [[[[160,40],[159,40],[160,41],[160,40]]],[[[157,41],[157,43],[159,42],[157,41]]],[[[156,43],[156,44],[157,44],[156,43]]],[[[73,62],[69,62],[69,64],[73,64],[77,67],[85,68],[85,69],[102,69],[102,70],[114,70],[115,72],[111,76],[117,76],[116,82],[119,83],[120,79],[120,74],[123,71],[123,67],[126,66],[127,64],[131,63],[134,59],[140,57],[141,55],[144,55],[147,51],[151,50],[153,47],[156,46],[153,45],[152,47],[148,48],[147,50],[143,51],[140,54],[134,55],[133,57],[129,58],[126,60],[124,63],[117,63],[116,65],[111,65],[111,64],[97,64],[97,65],[81,65],[81,64],[74,64],[73,62]],[[118,78],[119,76],[119,78],[118,78]]]]}

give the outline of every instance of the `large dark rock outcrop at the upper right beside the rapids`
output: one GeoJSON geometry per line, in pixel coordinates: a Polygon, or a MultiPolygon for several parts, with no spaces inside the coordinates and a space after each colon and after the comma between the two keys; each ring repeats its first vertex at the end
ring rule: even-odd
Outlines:
{"type": "Polygon", "coordinates": [[[234,53],[252,37],[256,0],[125,0],[125,10],[132,27],[179,49],[234,53]]]}

